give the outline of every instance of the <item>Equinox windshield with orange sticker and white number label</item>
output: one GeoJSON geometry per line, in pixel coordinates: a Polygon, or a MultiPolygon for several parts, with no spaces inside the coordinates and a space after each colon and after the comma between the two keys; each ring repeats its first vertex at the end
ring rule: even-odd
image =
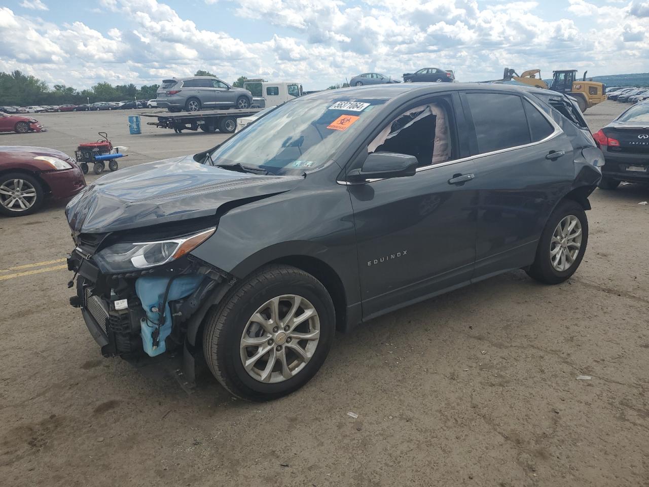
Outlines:
{"type": "Polygon", "coordinates": [[[241,164],[273,174],[319,168],[371,119],[380,100],[296,100],[278,106],[210,153],[215,166],[241,164]]]}

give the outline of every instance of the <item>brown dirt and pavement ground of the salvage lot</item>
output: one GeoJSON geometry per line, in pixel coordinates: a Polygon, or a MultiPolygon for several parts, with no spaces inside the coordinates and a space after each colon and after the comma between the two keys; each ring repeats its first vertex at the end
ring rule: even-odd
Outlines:
{"type": "MultiPolygon", "coordinates": [[[[596,130],[621,108],[586,118],[596,130]]],[[[39,114],[49,132],[0,145],[73,153],[103,130],[130,146],[129,165],[224,138],[130,136],[128,114],[39,114]]],[[[264,404],[206,374],[187,395],[102,358],[67,304],[64,207],[0,218],[2,483],[649,485],[648,199],[633,184],[591,196],[589,249],[569,282],[517,271],[376,319],[337,336],[306,387],[264,404]]]]}

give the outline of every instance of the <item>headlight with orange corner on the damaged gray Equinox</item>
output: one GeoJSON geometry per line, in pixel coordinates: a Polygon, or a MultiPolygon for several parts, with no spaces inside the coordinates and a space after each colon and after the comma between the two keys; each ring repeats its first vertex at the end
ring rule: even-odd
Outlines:
{"type": "Polygon", "coordinates": [[[109,274],[160,266],[190,253],[215,231],[213,228],[159,242],[115,243],[93,258],[101,271],[109,274]]]}

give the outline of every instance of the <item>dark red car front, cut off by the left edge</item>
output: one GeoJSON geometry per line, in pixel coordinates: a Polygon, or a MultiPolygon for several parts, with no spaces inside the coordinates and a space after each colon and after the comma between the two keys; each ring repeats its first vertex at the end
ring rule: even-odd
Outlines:
{"type": "Polygon", "coordinates": [[[45,199],[69,199],[86,187],[77,162],[45,147],[0,146],[0,214],[34,213],[45,199]]]}

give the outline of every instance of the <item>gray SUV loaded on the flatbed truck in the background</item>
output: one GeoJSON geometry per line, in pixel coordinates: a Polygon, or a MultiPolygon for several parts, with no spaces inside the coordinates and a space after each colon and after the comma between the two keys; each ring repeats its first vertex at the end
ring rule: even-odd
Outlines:
{"type": "Polygon", "coordinates": [[[169,112],[197,112],[201,108],[250,108],[252,94],[212,76],[165,79],[156,103],[169,112]]]}

